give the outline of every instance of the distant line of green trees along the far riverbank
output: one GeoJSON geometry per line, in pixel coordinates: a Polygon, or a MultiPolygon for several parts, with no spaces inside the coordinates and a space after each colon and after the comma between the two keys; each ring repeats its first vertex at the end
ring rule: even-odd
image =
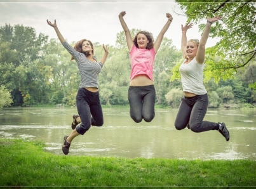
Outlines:
{"type": "MultiPolygon", "coordinates": [[[[137,29],[131,30],[132,35],[137,32],[137,29]]],[[[74,42],[68,39],[67,42],[74,46],[74,42]]],[[[95,42],[93,46],[95,56],[100,59],[104,54],[102,44],[95,42]]],[[[80,80],[78,68],[58,39],[49,40],[44,34],[36,36],[32,27],[6,24],[0,27],[0,49],[0,86],[10,92],[12,106],[76,105],[80,80]]],[[[181,51],[173,46],[171,39],[165,37],[154,62],[157,105],[179,106],[182,86],[177,68],[182,60],[181,51]]],[[[116,46],[109,47],[107,62],[99,74],[103,105],[128,105],[130,68],[125,34],[119,32],[116,46]]],[[[247,67],[238,69],[231,79],[224,77],[224,81],[222,75],[211,75],[206,69],[209,107],[253,105],[256,93],[248,84],[255,82],[255,70],[256,62],[252,61],[247,67]],[[220,79],[219,82],[214,82],[216,78],[220,79]]],[[[0,93],[3,88],[0,88],[0,93]]]]}

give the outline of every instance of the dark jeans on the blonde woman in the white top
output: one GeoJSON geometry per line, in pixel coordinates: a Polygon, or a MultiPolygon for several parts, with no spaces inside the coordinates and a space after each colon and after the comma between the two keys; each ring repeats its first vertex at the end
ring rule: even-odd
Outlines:
{"type": "Polygon", "coordinates": [[[200,133],[203,131],[215,130],[216,122],[203,121],[208,107],[208,94],[196,95],[190,98],[182,97],[178,114],[175,120],[175,127],[178,130],[184,129],[189,123],[191,131],[200,133]]]}

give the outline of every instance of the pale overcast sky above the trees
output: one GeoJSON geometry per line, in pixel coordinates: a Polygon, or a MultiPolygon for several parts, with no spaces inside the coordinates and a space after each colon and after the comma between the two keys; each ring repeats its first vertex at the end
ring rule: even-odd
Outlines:
{"type": "MultiPolygon", "coordinates": [[[[115,46],[116,35],[123,31],[118,15],[126,11],[124,16],[128,28],[147,30],[154,39],[165,25],[168,18],[166,13],[173,16],[173,22],[165,33],[172,39],[173,45],[180,49],[181,24],[187,21],[186,16],[174,1],[160,0],[84,0],[84,1],[3,1],[0,0],[0,26],[10,23],[11,26],[20,24],[32,27],[39,33],[57,39],[52,23],[57,21],[58,29],[67,42],[88,39],[91,42],[115,46]]],[[[206,22],[206,19],[202,22],[206,22]]],[[[200,39],[198,26],[194,25],[187,32],[187,39],[200,39]]],[[[215,45],[217,39],[209,38],[206,48],[215,45]]]]}

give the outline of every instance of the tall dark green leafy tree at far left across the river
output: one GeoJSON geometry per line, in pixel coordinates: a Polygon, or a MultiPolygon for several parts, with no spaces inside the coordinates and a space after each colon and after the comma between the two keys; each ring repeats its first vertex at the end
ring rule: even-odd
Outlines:
{"type": "Polygon", "coordinates": [[[10,24],[0,27],[0,61],[6,71],[0,74],[3,79],[0,82],[11,91],[13,105],[30,105],[36,101],[32,96],[40,96],[38,89],[43,86],[44,77],[37,60],[47,39],[41,33],[37,36],[32,27],[10,24]]]}

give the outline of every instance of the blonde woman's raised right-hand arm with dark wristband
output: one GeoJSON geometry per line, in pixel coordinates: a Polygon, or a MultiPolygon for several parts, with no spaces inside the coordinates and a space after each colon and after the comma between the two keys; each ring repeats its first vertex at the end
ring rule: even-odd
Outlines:
{"type": "Polygon", "coordinates": [[[207,17],[207,22],[205,30],[203,31],[202,37],[199,41],[198,52],[196,53],[196,61],[198,63],[203,63],[205,61],[205,44],[209,37],[210,27],[213,22],[221,20],[221,16],[215,16],[213,18],[207,17]]]}

